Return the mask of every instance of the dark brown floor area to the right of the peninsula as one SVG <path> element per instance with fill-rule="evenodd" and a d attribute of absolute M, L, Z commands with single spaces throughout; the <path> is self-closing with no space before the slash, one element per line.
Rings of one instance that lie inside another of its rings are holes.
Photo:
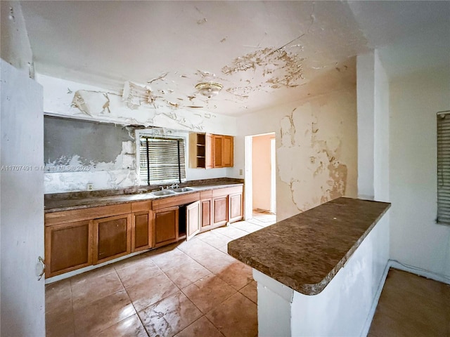
<path fill-rule="evenodd" d="M 390 269 L 368 337 L 450 337 L 450 286 Z"/>

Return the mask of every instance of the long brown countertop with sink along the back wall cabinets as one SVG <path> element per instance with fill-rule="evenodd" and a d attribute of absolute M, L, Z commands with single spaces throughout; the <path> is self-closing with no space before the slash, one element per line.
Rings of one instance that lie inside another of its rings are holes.
<path fill-rule="evenodd" d="M 115 204 L 124 204 L 128 202 L 137 202 L 137 201 L 147 201 L 147 200 L 156 200 L 162 198 L 170 198 L 176 197 L 179 195 L 185 195 L 190 193 L 198 193 L 206 190 L 216 190 L 219 188 L 226 187 L 234 187 L 234 186 L 242 186 L 243 183 L 214 183 L 214 184 L 203 184 L 203 185 L 189 185 L 193 190 L 190 192 L 176 193 L 165 196 L 156 197 L 151 194 L 151 192 L 141 192 L 135 194 L 117 194 L 117 195 L 106 195 L 104 197 L 101 196 L 91 196 L 84 197 L 81 199 L 70 198 L 69 193 L 64 193 L 61 198 L 56 197 L 55 194 L 52 197 L 48 197 L 44 201 L 44 213 L 52 213 L 59 211 L 70 211 L 74 209 L 88 209 L 91 207 L 98 206 L 110 206 Z M 75 193 L 74 193 L 75 194 Z"/>

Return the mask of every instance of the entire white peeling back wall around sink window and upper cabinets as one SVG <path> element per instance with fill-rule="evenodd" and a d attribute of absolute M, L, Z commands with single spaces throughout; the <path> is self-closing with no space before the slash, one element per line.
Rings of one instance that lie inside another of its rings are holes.
<path fill-rule="evenodd" d="M 94 190 L 139 185 L 132 132 L 135 127 L 157 126 L 186 138 L 188 132 L 236 134 L 235 117 L 197 110 L 193 113 L 181 107 L 149 107 L 102 88 L 39 74 L 37 80 L 44 86 L 47 114 L 46 193 L 82 191 L 88 183 Z M 231 170 L 188 168 L 186 178 L 222 178 Z"/>

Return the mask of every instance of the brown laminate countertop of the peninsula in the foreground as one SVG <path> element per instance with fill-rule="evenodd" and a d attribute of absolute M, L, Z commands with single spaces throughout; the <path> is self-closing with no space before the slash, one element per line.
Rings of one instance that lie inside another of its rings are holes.
<path fill-rule="evenodd" d="M 389 208 L 340 197 L 233 240 L 228 252 L 295 291 L 316 295 Z"/>

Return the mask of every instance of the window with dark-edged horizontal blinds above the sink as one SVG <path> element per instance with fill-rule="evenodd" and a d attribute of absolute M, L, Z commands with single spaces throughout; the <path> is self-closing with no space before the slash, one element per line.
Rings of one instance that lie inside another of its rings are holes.
<path fill-rule="evenodd" d="M 186 181 L 184 138 L 139 136 L 141 185 Z"/>

